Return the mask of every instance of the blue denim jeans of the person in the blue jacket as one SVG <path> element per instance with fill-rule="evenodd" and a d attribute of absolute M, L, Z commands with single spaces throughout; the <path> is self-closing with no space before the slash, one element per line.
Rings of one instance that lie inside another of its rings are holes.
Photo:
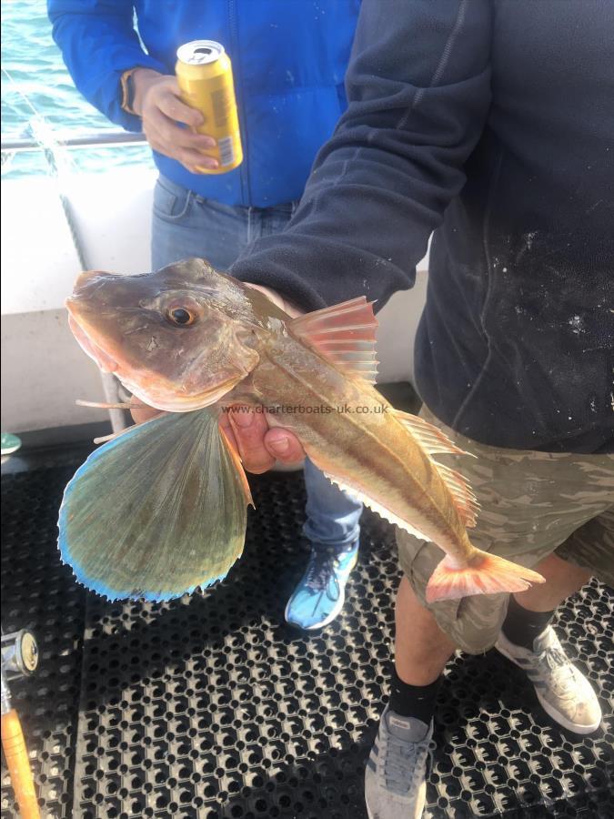
<path fill-rule="evenodd" d="M 222 205 L 159 177 L 154 191 L 152 267 L 157 270 L 180 258 L 198 257 L 226 270 L 255 239 L 281 232 L 296 207 L 297 202 L 266 208 Z M 307 540 L 338 548 L 356 541 L 362 503 L 337 489 L 308 459 L 305 485 Z"/>

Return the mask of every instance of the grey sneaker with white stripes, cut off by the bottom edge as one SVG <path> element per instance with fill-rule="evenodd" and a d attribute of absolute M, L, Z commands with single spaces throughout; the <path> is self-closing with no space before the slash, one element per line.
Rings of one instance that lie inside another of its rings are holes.
<path fill-rule="evenodd" d="M 419 819 L 427 798 L 433 723 L 390 711 L 388 705 L 365 771 L 369 819 Z"/>

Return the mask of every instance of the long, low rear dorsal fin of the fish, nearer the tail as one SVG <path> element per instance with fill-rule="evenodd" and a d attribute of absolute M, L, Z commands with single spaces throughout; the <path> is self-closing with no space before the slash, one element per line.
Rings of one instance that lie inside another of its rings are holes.
<path fill-rule="evenodd" d="M 433 424 L 429 424 L 428 421 L 418 418 L 416 415 L 399 412 L 398 410 L 395 410 L 395 416 L 408 428 L 414 438 L 418 440 L 420 446 L 427 450 L 429 456 L 454 454 L 471 455 L 472 458 L 476 457 L 472 452 L 461 450 L 453 441 L 449 440 L 445 432 L 439 430 L 438 427 L 433 426 Z M 431 460 L 433 459 L 431 458 Z M 479 504 L 468 481 L 460 472 L 451 470 L 436 460 L 433 460 L 433 465 L 438 470 L 439 477 L 446 483 L 448 490 L 450 490 L 454 496 L 458 514 L 463 524 L 468 529 L 475 526 Z"/>

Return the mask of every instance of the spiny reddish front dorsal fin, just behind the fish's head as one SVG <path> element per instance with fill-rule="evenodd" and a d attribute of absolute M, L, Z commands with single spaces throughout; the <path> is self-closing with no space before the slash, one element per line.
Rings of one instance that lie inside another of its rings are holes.
<path fill-rule="evenodd" d="M 293 319 L 290 331 L 347 375 L 375 383 L 377 319 L 364 296 Z"/>

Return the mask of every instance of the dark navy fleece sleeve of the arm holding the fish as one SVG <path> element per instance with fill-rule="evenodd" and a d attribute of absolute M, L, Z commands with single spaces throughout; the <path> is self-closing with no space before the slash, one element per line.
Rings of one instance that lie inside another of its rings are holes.
<path fill-rule="evenodd" d="M 413 286 L 490 103 L 490 0 L 363 0 L 348 108 L 286 229 L 231 273 L 307 309 Z"/>

